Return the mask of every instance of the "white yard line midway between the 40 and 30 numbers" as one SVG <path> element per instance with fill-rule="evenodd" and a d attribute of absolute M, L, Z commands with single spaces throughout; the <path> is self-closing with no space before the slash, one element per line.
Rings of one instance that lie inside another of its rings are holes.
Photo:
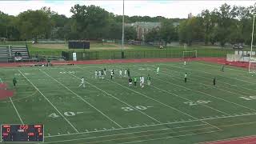
<path fill-rule="evenodd" d="M 41 70 L 41 69 L 39 69 L 39 70 Z M 49 74 L 47 74 L 45 71 L 43 71 L 43 70 L 41 70 L 41 71 L 42 71 L 42 73 L 46 74 L 48 77 L 54 79 L 55 82 L 58 82 L 57 79 L 51 77 L 51 76 L 50 76 Z M 79 78 L 79 79 L 80 79 L 80 78 Z M 64 86 L 64 85 L 62 84 L 62 82 L 58 82 L 58 83 L 59 83 L 60 85 L 62 85 L 63 87 L 65 87 L 66 90 L 69 90 L 72 94 L 74 94 L 74 95 L 76 95 L 78 98 L 80 98 L 83 102 L 86 102 L 86 104 L 88 104 L 89 106 L 93 107 L 94 110 L 97 110 L 100 114 L 102 114 L 104 117 L 106 117 L 107 119 L 109 119 L 111 122 L 114 122 L 114 124 L 116 124 L 117 126 L 122 127 L 120 124 L 118 124 L 118 122 L 115 122 L 112 118 L 108 117 L 108 116 L 107 116 L 106 114 L 104 114 L 101 110 L 98 110 L 95 106 L 91 105 L 90 102 L 87 102 L 87 101 L 86 101 L 85 99 L 83 99 L 80 95 L 74 93 L 73 90 L 70 90 L 70 88 Z"/>

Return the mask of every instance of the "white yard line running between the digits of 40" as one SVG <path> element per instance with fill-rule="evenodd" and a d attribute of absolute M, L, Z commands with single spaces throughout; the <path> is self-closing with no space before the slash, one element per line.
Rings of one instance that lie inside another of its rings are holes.
<path fill-rule="evenodd" d="M 18 70 L 18 72 L 19 72 L 20 74 L 22 74 L 22 71 L 21 71 L 21 70 Z M 22 76 L 23 76 L 24 78 L 26 78 L 26 76 L 25 76 L 24 74 L 22 74 Z M 28 78 L 26 78 L 26 80 L 27 80 L 28 82 L 30 82 L 32 86 L 34 86 L 34 83 L 31 82 Z M 38 90 L 38 92 L 46 99 L 46 101 L 49 102 L 50 105 L 54 107 L 54 109 L 58 112 L 58 114 L 60 114 L 60 115 L 62 116 L 62 118 L 63 118 L 68 124 L 70 124 L 70 126 L 74 129 L 74 131 L 76 131 L 77 133 L 79 133 L 79 131 L 73 126 L 73 124 L 72 124 L 67 118 L 65 118 L 64 115 L 57 109 L 57 107 L 54 106 L 54 104 L 53 104 L 52 102 L 50 102 L 50 100 L 49 100 L 48 98 L 46 98 L 46 96 L 45 96 L 44 94 L 42 94 L 42 92 L 38 89 L 38 87 L 37 87 L 37 86 L 34 86 L 34 88 L 35 88 L 36 90 Z"/>

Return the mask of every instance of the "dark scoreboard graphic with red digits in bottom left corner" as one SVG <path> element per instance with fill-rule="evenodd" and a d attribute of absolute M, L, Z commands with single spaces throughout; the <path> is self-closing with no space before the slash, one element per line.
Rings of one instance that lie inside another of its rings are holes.
<path fill-rule="evenodd" d="M 1 142 L 44 142 L 43 125 L 1 125 Z"/>

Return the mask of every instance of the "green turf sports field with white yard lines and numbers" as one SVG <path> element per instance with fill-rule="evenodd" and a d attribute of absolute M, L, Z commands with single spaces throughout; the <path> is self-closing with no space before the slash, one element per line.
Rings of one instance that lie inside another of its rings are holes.
<path fill-rule="evenodd" d="M 95 79 L 94 71 L 104 68 L 106 78 Z M 129 87 L 118 76 L 128 68 L 132 77 L 150 74 L 151 86 Z M 0 82 L 9 89 L 12 78 L 18 80 L 14 97 L 0 100 L 0 124 L 44 124 L 45 143 L 66 144 L 200 143 L 255 135 L 256 75 L 221 68 L 207 62 L 0 68 Z M 85 89 L 78 87 L 82 77 Z"/>

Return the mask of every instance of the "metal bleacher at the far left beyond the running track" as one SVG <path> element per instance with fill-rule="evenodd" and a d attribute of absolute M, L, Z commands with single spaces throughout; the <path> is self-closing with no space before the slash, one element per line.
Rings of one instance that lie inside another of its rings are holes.
<path fill-rule="evenodd" d="M 19 54 L 22 59 L 30 58 L 27 46 L 0 46 L 0 61 L 14 61 L 17 54 Z"/>

